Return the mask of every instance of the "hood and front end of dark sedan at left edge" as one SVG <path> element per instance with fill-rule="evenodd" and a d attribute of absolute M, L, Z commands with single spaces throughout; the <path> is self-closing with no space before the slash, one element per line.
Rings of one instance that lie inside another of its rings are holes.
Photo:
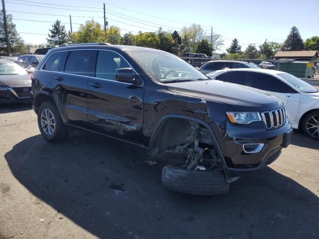
<path fill-rule="evenodd" d="M 0 91 L 0 104 L 30 102 L 31 79 L 25 75 L 0 75 L 0 86 L 9 88 Z"/>

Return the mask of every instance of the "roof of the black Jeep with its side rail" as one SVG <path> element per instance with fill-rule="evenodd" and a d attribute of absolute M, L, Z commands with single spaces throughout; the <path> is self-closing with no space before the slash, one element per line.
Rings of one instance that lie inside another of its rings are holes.
<path fill-rule="evenodd" d="M 148 48 L 148 47 L 141 47 L 141 46 L 126 46 L 126 45 L 108 45 L 107 43 L 87 43 L 87 44 L 72 44 L 72 45 L 65 45 L 56 47 L 50 50 L 50 52 L 61 51 L 61 50 L 70 50 L 76 48 L 87 48 L 87 47 L 94 47 L 94 48 L 105 48 L 105 49 L 120 49 L 124 51 L 145 51 L 145 52 L 161 52 L 167 53 L 166 51 L 161 51 L 158 49 Z"/>

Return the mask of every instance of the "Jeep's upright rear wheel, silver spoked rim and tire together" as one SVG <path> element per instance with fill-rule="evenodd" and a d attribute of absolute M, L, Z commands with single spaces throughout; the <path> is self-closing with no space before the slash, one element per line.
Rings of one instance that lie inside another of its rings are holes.
<path fill-rule="evenodd" d="M 39 107 L 38 126 L 42 136 L 50 142 L 60 142 L 68 134 L 56 106 L 49 101 Z"/>

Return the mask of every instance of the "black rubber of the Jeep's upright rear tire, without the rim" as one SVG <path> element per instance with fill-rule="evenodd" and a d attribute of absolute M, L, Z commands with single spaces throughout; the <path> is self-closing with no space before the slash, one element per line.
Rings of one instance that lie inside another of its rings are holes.
<path fill-rule="evenodd" d="M 46 132 L 44 132 L 42 125 L 41 125 L 41 114 L 44 110 L 48 109 L 55 120 L 55 128 L 53 130 L 52 135 L 48 135 Z M 50 101 L 43 102 L 38 110 L 38 126 L 40 129 L 40 132 L 42 136 L 49 142 L 61 142 L 68 134 L 68 129 L 66 128 L 65 124 L 63 123 L 61 116 L 54 105 L 54 103 Z"/>

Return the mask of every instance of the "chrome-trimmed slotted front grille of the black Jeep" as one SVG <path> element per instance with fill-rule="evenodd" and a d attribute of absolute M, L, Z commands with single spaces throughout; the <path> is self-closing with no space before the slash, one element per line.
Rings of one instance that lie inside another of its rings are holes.
<path fill-rule="evenodd" d="M 283 126 L 287 120 L 285 107 L 279 108 L 275 111 L 266 111 L 261 113 L 261 117 L 267 129 L 274 129 Z"/>

